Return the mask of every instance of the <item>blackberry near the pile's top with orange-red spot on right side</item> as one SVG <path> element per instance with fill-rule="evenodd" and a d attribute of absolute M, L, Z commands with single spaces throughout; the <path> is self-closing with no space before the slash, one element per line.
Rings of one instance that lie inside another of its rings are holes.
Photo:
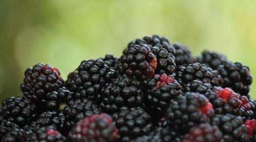
<path fill-rule="evenodd" d="M 155 74 L 157 59 L 150 50 L 151 45 L 131 46 L 119 58 L 117 69 L 120 75 L 138 79 L 151 78 Z"/>

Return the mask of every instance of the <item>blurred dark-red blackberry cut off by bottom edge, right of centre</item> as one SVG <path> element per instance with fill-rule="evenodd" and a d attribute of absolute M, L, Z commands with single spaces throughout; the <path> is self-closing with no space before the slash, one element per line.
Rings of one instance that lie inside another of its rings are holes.
<path fill-rule="evenodd" d="M 195 126 L 189 130 L 189 132 L 184 136 L 183 142 L 189 141 L 223 141 L 222 132 L 219 130 L 218 126 L 211 126 L 209 123 L 202 123 Z"/>

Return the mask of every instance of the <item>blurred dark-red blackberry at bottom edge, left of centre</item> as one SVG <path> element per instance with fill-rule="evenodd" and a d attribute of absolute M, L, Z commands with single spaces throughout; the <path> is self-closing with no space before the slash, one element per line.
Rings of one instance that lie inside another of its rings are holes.
<path fill-rule="evenodd" d="M 101 113 L 85 117 L 72 128 L 69 137 L 71 141 L 106 141 L 117 138 L 116 127 L 110 115 Z"/>

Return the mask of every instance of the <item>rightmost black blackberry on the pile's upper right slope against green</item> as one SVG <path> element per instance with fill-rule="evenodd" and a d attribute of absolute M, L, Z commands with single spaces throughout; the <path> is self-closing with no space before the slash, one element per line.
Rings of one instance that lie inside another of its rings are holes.
<path fill-rule="evenodd" d="M 230 87 L 235 92 L 247 98 L 249 97 L 248 93 L 252 83 L 252 76 L 248 66 L 243 65 L 241 62 L 233 63 L 227 61 L 219 65 L 217 70 L 224 79 L 223 87 Z"/>

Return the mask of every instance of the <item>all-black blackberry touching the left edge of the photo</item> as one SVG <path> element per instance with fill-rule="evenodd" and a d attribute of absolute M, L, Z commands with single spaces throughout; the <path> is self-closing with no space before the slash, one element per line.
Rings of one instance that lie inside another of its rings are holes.
<path fill-rule="evenodd" d="M 35 119 L 36 105 L 24 96 L 10 97 L 2 102 L 3 120 L 22 127 Z"/>

